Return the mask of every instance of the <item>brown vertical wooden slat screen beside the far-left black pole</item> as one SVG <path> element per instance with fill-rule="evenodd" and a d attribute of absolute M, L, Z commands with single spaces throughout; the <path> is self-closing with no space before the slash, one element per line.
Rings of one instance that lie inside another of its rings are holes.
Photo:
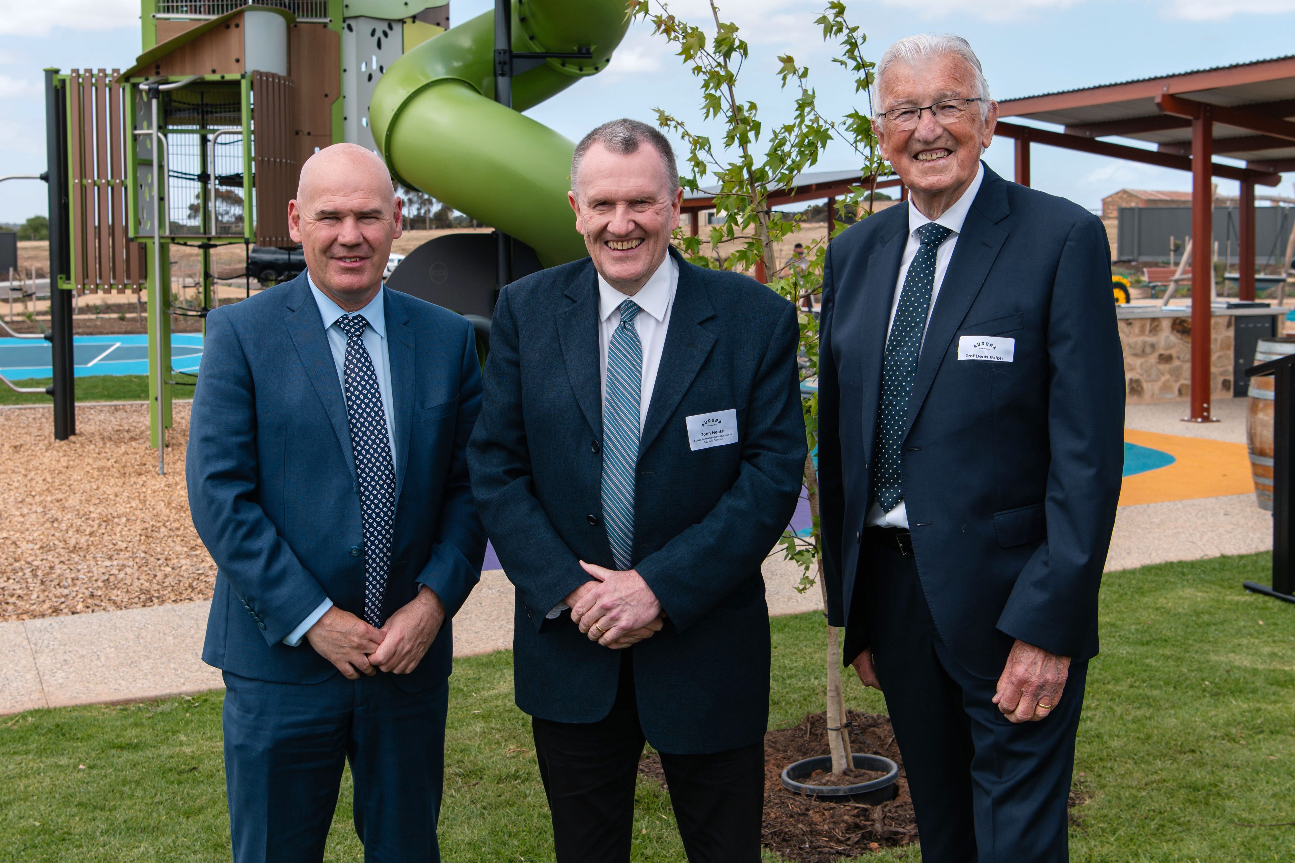
<path fill-rule="evenodd" d="M 82 291 L 140 290 L 144 243 L 127 239 L 126 89 L 117 70 L 73 70 L 67 128 L 73 283 Z"/>

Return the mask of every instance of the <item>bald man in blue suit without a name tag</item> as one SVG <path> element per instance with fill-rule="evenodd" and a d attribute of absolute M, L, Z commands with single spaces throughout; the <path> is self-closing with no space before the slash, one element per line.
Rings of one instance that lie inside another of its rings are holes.
<path fill-rule="evenodd" d="M 435 862 L 449 620 L 486 552 L 475 340 L 382 286 L 400 199 L 368 150 L 313 155 L 289 226 L 307 270 L 207 316 L 189 431 L 233 855 L 321 860 L 350 759 L 365 859 Z"/>

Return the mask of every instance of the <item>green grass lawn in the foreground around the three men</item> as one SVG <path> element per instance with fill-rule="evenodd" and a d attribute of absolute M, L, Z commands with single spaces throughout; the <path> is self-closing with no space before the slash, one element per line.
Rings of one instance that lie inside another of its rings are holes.
<path fill-rule="evenodd" d="M 1263 554 L 1107 576 L 1103 652 L 1079 736 L 1090 801 L 1072 831 L 1072 859 L 1295 860 L 1295 827 L 1242 825 L 1295 822 L 1295 606 L 1241 589 L 1244 578 L 1267 582 L 1268 567 Z M 825 639 L 820 615 L 772 625 L 771 721 L 783 726 L 821 709 Z M 510 674 L 508 653 L 455 662 L 447 860 L 552 859 Z M 884 709 L 857 681 L 847 701 Z M 0 860 L 227 859 L 220 703 L 212 694 L 0 719 Z M 329 860 L 363 859 L 348 800 L 350 785 Z M 636 860 L 684 859 L 668 798 L 642 780 L 636 819 Z"/>

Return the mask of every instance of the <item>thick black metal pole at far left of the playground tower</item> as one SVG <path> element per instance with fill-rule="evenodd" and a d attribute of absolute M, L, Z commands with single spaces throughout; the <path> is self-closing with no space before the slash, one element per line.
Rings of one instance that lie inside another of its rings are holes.
<path fill-rule="evenodd" d="M 54 440 L 76 433 L 76 379 L 73 374 L 73 292 L 60 287 L 71 276 L 67 234 L 67 96 L 57 69 L 45 70 L 45 162 L 49 176 L 49 334 L 53 365 Z"/>

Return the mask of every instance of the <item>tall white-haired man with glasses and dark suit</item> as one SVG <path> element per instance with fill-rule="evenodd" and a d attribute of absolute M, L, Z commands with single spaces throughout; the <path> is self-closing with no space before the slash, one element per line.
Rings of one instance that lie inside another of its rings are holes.
<path fill-rule="evenodd" d="M 829 246 L 829 618 L 886 695 L 927 863 L 1067 859 L 1066 801 L 1123 467 L 1101 221 L 980 162 L 997 106 L 957 36 L 877 69 L 912 198 Z"/>

